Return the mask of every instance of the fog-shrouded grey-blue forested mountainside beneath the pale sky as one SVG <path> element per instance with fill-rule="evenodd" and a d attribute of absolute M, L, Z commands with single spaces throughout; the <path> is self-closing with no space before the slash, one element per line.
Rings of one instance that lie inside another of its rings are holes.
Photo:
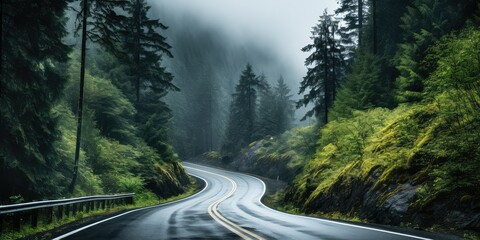
<path fill-rule="evenodd" d="M 165 59 L 165 65 L 181 91 L 168 94 L 166 102 L 175 106 L 170 142 L 183 159 L 225 145 L 232 95 L 247 64 L 256 76 L 265 76 L 272 91 L 282 76 L 286 86 L 293 89 L 294 74 L 269 50 L 232 40 L 228 34 L 199 23 L 193 16 L 177 16 L 166 9 L 158 14 L 176 26 L 165 33 L 175 43 L 171 49 L 175 57 Z"/>

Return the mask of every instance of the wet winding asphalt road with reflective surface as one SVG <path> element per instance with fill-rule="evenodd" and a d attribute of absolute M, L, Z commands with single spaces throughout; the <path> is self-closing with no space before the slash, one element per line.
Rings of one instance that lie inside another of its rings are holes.
<path fill-rule="evenodd" d="M 291 215 L 260 202 L 258 178 L 183 163 L 206 187 L 198 194 L 133 210 L 54 239 L 436 239 L 435 235 Z"/>

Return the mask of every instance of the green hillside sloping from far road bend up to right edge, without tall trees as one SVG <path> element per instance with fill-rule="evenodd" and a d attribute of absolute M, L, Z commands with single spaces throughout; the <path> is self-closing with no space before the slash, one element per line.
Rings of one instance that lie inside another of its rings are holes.
<path fill-rule="evenodd" d="M 432 48 L 422 102 L 353 111 L 253 142 L 232 159 L 206 157 L 287 181 L 269 200 L 286 211 L 478 233 L 479 39 L 466 29 Z"/>

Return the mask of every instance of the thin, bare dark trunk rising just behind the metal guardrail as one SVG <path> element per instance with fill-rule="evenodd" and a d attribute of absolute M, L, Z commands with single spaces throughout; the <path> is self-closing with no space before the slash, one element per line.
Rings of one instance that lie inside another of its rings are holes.
<path fill-rule="evenodd" d="M 75 189 L 75 183 L 78 175 L 78 160 L 80 158 L 80 143 L 82 141 L 82 118 L 83 118 L 83 88 L 85 86 L 85 55 L 87 48 L 87 18 L 88 18 L 88 0 L 83 0 L 82 17 L 82 49 L 80 62 L 80 94 L 78 96 L 78 123 L 77 123 L 77 142 L 75 145 L 75 163 L 73 167 L 73 177 L 70 183 L 70 193 Z"/>

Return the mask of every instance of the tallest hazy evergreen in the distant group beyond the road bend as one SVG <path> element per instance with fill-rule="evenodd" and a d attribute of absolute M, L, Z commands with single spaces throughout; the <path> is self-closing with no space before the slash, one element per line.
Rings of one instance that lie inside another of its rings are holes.
<path fill-rule="evenodd" d="M 230 106 L 230 118 L 222 146 L 227 154 L 237 152 L 254 139 L 257 89 L 261 87 L 261 79 L 255 75 L 252 66 L 247 64 L 235 87 Z"/>

